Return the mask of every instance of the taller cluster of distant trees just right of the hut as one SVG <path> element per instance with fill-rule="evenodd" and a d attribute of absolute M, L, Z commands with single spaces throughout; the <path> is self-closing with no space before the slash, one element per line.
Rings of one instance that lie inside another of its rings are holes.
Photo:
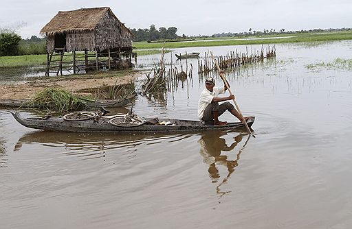
<path fill-rule="evenodd" d="M 155 28 L 155 25 L 151 25 L 149 29 L 131 29 L 133 34 L 133 41 L 148 41 L 151 42 L 153 40 L 175 40 L 179 38 L 177 36 L 177 28 L 176 27 L 159 27 L 159 29 Z"/>

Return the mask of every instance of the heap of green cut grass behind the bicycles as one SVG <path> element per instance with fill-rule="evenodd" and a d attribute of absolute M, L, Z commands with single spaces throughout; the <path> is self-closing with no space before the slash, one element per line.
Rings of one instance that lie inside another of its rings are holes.
<path fill-rule="evenodd" d="M 67 110 L 85 109 L 88 107 L 87 103 L 89 101 L 94 100 L 89 97 L 80 97 L 63 88 L 45 88 L 43 91 L 36 93 L 30 99 L 29 104 L 33 107 L 62 113 Z"/>

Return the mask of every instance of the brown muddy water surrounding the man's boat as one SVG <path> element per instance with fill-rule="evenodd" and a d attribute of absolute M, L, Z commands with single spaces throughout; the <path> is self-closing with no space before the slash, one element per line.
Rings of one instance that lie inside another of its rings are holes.
<path fill-rule="evenodd" d="M 0 228 L 350 228 L 352 72 L 305 66 L 351 59 L 352 41 L 276 52 L 226 73 L 256 138 L 41 132 L 0 110 Z M 138 97 L 137 115 L 197 119 L 203 77 L 192 63 L 183 87 Z"/>

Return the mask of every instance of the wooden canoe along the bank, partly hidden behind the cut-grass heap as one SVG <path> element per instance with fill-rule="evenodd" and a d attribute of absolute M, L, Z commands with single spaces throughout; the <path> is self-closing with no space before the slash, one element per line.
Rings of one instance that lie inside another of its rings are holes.
<path fill-rule="evenodd" d="M 99 108 L 102 106 L 105 108 L 120 108 L 129 104 L 131 102 L 129 99 L 132 99 L 133 97 L 127 99 L 99 99 L 97 101 L 87 101 L 87 108 Z M 29 101 L 30 99 L 0 99 L 0 107 L 39 108 L 36 104 L 32 106 Z"/>

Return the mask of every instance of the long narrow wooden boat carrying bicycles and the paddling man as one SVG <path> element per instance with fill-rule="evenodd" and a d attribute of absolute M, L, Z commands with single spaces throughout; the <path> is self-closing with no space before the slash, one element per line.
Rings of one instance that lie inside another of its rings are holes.
<path fill-rule="evenodd" d="M 100 132 L 100 133 L 144 133 L 144 132 L 201 132 L 209 130 L 235 130 L 243 128 L 241 122 L 228 123 L 227 125 L 205 125 L 201 121 L 181 119 L 159 119 L 159 122 L 170 122 L 170 125 L 139 125 L 135 127 L 119 127 L 111 125 L 107 120 L 64 121 L 61 117 L 50 118 L 24 118 L 19 112 L 11 111 L 14 119 L 28 128 L 50 130 L 57 132 Z M 248 119 L 248 126 L 252 126 L 255 117 Z"/>

